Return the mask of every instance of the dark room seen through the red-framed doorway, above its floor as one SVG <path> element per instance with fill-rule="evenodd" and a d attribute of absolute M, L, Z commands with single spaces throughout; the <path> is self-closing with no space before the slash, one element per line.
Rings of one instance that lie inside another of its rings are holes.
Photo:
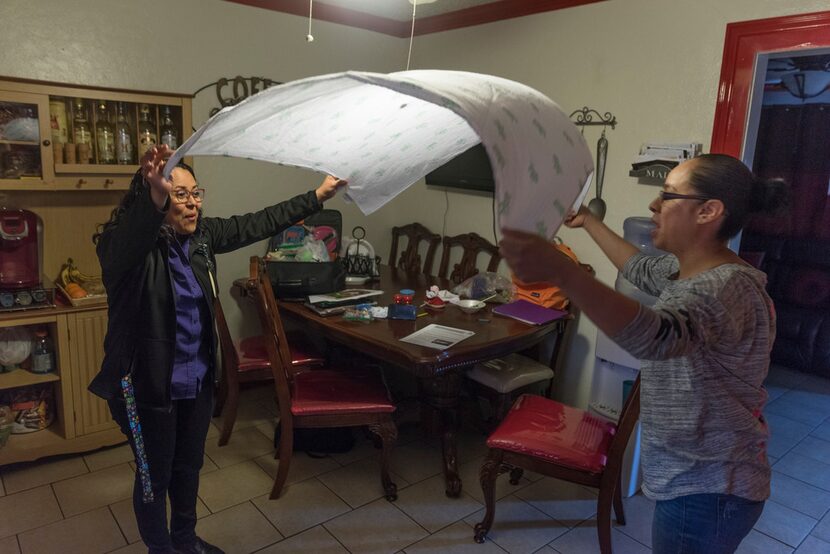
<path fill-rule="evenodd" d="M 769 279 L 773 362 L 830 378 L 830 49 L 760 54 L 753 89 L 743 158 L 791 204 L 749 222 L 741 255 Z"/>

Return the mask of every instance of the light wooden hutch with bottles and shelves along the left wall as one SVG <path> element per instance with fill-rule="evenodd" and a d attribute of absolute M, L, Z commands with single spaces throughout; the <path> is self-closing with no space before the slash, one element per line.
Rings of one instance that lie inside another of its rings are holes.
<path fill-rule="evenodd" d="M 77 99 L 82 102 L 81 111 L 75 113 Z M 147 104 L 150 119 L 155 126 L 157 139 L 161 138 L 162 115 L 169 107 L 179 139 L 184 142 L 192 129 L 192 96 L 188 94 L 154 93 L 86 87 L 72 84 L 48 83 L 8 77 L 0 77 L 0 103 L 14 105 L 14 110 L 37 114 L 37 141 L 0 141 L 0 151 L 21 151 L 27 172 L 37 171 L 36 177 L 3 179 L 0 175 L 0 197 L 6 205 L 30 210 L 42 221 L 43 251 L 40 271 L 43 275 L 57 275 L 61 265 L 71 256 L 75 263 L 89 273 L 100 273 L 100 263 L 95 245 L 90 240 L 99 230 L 99 224 L 108 221 L 112 210 L 119 205 L 123 191 L 127 190 L 138 164 L 80 164 L 75 156 L 67 154 L 65 143 L 52 145 L 50 116 L 53 103 L 61 101 L 65 107 L 55 109 L 59 127 L 66 127 L 66 140 L 73 141 L 75 122 L 86 119 L 88 131 L 96 136 L 102 112 L 99 101 L 105 102 L 109 122 L 114 124 L 118 106 L 123 102 L 122 113 L 133 136 L 133 149 L 138 151 L 141 105 Z M 77 118 L 75 116 L 78 116 Z M 30 136 L 30 135 L 19 135 Z M 63 139 L 63 131 L 60 133 Z M 80 140 L 79 140 L 80 141 Z M 58 141 L 60 142 L 60 141 Z M 160 142 L 160 141 L 159 141 Z M 46 143 L 46 144 L 44 144 Z M 74 141 L 73 141 L 74 143 Z M 92 145 L 91 161 L 101 159 L 97 147 Z M 34 156 L 34 154 L 37 154 Z M 2 173 L 2 172 L 0 172 Z M 12 175 L 9 174 L 9 177 Z M 93 395 L 87 386 L 100 371 L 104 358 L 104 339 L 107 333 L 107 305 L 93 303 L 98 299 L 85 299 L 68 306 L 60 294 L 55 295 L 55 308 L 26 311 L 0 311 L 0 328 L 46 325 L 55 349 L 57 373 L 36 375 L 26 370 L 0 374 L 0 390 L 24 387 L 38 383 L 53 383 L 55 393 L 55 422 L 50 428 L 26 435 L 13 435 L 8 444 L 0 448 L 0 466 L 31 461 L 45 456 L 85 452 L 106 445 L 123 443 L 125 437 L 112 421 L 106 401 Z"/>

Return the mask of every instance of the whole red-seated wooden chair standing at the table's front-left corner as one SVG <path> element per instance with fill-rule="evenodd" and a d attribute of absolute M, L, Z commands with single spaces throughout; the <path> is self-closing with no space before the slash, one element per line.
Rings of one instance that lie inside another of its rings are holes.
<path fill-rule="evenodd" d="M 380 437 L 381 485 L 387 500 L 397 499 L 389 477 L 391 450 L 398 436 L 395 405 L 381 375 L 367 369 L 327 365 L 313 371 L 290 371 L 290 350 L 271 281 L 258 257 L 251 258 L 249 290 L 254 292 L 265 346 L 271 360 L 279 404 L 279 459 L 271 498 L 279 498 L 291 467 L 295 428 L 363 427 Z"/>

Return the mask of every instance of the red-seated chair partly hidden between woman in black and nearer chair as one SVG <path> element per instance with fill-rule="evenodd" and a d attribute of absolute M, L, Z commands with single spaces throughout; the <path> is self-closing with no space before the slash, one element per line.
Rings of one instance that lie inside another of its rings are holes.
<path fill-rule="evenodd" d="M 272 381 L 271 361 L 265 346 L 265 337 L 255 335 L 236 342 L 231 337 L 225 311 L 219 302 L 214 301 L 216 312 L 216 332 L 219 335 L 219 348 L 222 351 L 222 378 L 216 395 L 213 417 L 222 418 L 222 430 L 219 433 L 219 446 L 225 446 L 233 433 L 236 415 L 239 410 L 239 389 L 242 383 Z M 291 366 L 295 371 L 322 366 L 326 360 L 313 347 L 302 341 L 291 346 Z"/>

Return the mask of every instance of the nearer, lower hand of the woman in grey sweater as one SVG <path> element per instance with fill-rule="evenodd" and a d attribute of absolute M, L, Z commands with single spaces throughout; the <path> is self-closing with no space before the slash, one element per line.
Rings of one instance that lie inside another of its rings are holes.
<path fill-rule="evenodd" d="M 560 284 L 577 266 L 547 239 L 524 231 L 503 229 L 499 252 L 513 274 L 525 283 Z"/>

